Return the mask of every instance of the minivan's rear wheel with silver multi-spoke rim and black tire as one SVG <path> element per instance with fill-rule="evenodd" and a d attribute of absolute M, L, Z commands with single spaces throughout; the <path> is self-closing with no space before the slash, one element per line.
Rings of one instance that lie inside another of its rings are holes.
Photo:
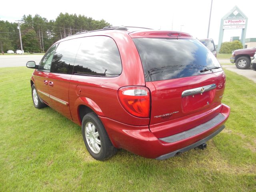
<path fill-rule="evenodd" d="M 116 154 L 117 149 L 112 145 L 108 134 L 98 118 L 91 112 L 82 120 L 82 136 L 90 155 L 96 160 L 106 160 Z"/>

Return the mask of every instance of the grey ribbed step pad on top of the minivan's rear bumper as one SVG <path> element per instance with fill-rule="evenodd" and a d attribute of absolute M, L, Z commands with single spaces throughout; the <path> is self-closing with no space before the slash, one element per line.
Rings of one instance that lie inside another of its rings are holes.
<path fill-rule="evenodd" d="M 175 134 L 175 135 L 171 135 L 168 137 L 164 137 L 164 138 L 160 138 L 160 140 L 164 141 L 164 142 L 168 142 L 168 143 L 173 143 L 179 140 L 183 140 L 189 137 L 192 137 L 194 135 L 200 134 L 214 126 L 216 126 L 217 124 L 219 124 L 220 122 L 222 122 L 225 119 L 225 116 L 221 113 L 219 113 L 216 117 L 212 118 L 210 121 L 201 124 L 199 126 L 196 126 L 192 129 L 186 130 L 184 132 Z"/>

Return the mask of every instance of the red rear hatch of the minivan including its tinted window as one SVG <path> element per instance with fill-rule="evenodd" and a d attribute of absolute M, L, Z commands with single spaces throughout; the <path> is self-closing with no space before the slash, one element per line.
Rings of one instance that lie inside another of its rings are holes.
<path fill-rule="evenodd" d="M 150 130 L 162 138 L 216 116 L 213 109 L 220 105 L 225 75 L 218 60 L 199 40 L 187 34 L 159 34 L 131 36 L 151 94 Z M 190 124 L 188 120 L 192 119 Z"/>

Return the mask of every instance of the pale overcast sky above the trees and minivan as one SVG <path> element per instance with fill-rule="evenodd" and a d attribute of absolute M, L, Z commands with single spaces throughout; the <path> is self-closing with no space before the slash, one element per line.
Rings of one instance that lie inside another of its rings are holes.
<path fill-rule="evenodd" d="M 206 38 L 211 0 L 90 0 L 90 1 L 27 1 L 3 0 L 0 20 L 14 22 L 22 16 L 39 14 L 55 20 L 62 13 L 82 14 L 93 19 L 104 19 L 113 26 L 140 26 L 154 29 L 172 29 L 188 32 L 197 38 Z M 209 38 L 218 44 L 220 20 L 234 6 L 248 17 L 246 38 L 256 38 L 256 0 L 213 0 Z M 225 30 L 224 41 L 241 36 L 242 29 Z"/>

